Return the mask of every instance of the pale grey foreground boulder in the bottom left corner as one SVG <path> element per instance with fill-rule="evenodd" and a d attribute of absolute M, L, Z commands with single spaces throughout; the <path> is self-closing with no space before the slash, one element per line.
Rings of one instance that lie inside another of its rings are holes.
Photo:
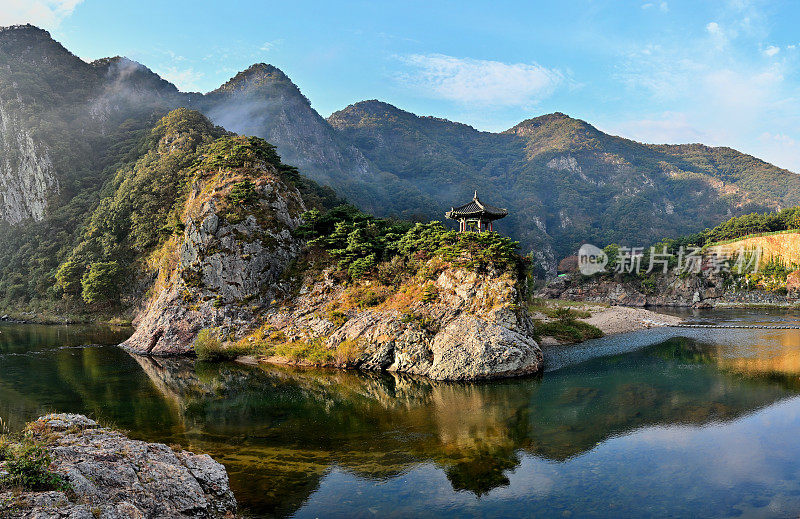
<path fill-rule="evenodd" d="M 0 493 L 13 518 L 229 518 L 236 500 L 225 468 L 208 455 L 131 440 L 82 415 L 53 414 L 29 424 L 50 451 L 66 492 Z"/>

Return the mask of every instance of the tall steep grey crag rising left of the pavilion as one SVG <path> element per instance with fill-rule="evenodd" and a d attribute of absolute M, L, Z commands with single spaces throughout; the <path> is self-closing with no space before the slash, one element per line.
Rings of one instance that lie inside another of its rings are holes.
<path fill-rule="evenodd" d="M 305 211 L 300 193 L 265 170 L 256 182 L 258 200 L 239 218 L 222 214 L 225 196 L 240 178 L 194 186 L 184 215 L 185 231 L 168 243 L 174 257 L 159 273 L 153 298 L 123 346 L 150 355 L 191 351 L 203 328 L 237 334 L 288 287 L 279 282 L 300 253 L 292 236 Z"/>

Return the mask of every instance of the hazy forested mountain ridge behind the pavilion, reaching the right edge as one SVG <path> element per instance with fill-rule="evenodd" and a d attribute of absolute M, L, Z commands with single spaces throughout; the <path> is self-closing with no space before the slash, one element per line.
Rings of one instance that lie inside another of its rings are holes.
<path fill-rule="evenodd" d="M 356 103 L 328 120 L 378 168 L 429 195 L 395 210 L 440 217 L 442 205 L 478 189 L 509 209 L 497 228 L 548 266 L 583 241 L 645 246 L 732 215 L 800 203 L 800 177 L 749 155 L 641 144 L 561 113 L 499 134 L 379 101 Z"/>

